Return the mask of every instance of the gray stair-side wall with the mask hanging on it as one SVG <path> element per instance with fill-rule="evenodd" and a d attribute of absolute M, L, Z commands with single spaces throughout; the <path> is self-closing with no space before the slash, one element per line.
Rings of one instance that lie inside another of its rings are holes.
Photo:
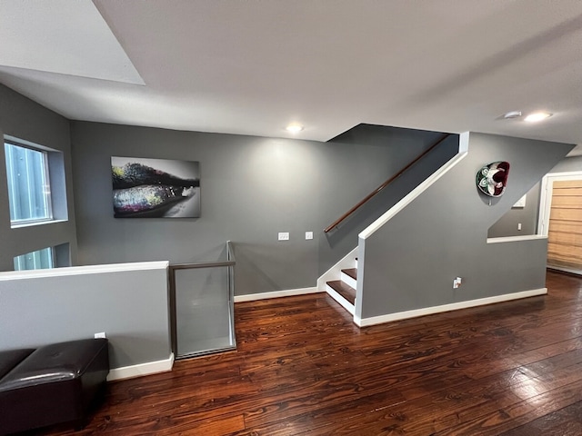
<path fill-rule="evenodd" d="M 470 134 L 465 159 L 360 240 L 363 295 L 356 314 L 368 318 L 545 287 L 547 241 L 487 244 L 487 229 L 572 147 Z M 475 179 L 495 161 L 511 163 L 511 171 L 506 193 L 489 205 Z M 453 290 L 457 276 L 463 284 Z"/>

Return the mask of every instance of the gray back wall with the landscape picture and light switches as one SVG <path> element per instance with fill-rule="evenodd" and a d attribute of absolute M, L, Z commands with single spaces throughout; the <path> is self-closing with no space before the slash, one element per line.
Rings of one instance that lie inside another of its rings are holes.
<path fill-rule="evenodd" d="M 71 136 L 79 263 L 214 261 L 230 240 L 237 295 L 315 286 L 356 247 L 366 216 L 351 220 L 356 232 L 347 236 L 328 238 L 326 225 L 432 144 L 406 129 L 369 144 L 85 122 L 72 122 Z M 201 217 L 115 219 L 112 155 L 199 161 Z M 307 231 L 314 240 L 306 241 Z M 290 240 L 278 242 L 278 232 Z"/>

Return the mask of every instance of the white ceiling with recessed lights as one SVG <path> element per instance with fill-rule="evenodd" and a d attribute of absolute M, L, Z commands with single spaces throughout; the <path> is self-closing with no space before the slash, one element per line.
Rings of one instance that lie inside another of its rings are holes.
<path fill-rule="evenodd" d="M 582 144 L 582 1 L 0 0 L 0 83 L 73 120 Z"/>

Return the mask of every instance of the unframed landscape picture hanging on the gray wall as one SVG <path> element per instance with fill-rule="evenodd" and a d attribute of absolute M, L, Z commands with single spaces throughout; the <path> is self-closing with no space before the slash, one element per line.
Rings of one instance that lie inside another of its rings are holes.
<path fill-rule="evenodd" d="M 200 164 L 111 157 L 115 218 L 197 218 Z"/>

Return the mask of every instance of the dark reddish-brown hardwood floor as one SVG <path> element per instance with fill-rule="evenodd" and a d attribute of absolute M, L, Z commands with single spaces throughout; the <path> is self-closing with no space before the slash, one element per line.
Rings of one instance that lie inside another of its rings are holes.
<path fill-rule="evenodd" d="M 358 329 L 324 293 L 236 304 L 238 350 L 109 383 L 118 435 L 580 435 L 582 280 Z"/>

